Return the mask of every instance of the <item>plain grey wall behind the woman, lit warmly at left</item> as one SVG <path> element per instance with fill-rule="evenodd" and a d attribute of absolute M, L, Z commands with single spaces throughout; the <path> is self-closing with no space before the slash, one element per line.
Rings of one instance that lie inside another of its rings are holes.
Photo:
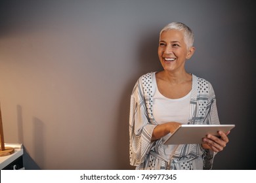
<path fill-rule="evenodd" d="M 26 169 L 134 169 L 131 90 L 161 70 L 158 33 L 179 21 L 196 37 L 188 72 L 236 124 L 213 168 L 255 169 L 253 13 L 247 1 L 1 1 L 5 142 L 24 144 Z"/>

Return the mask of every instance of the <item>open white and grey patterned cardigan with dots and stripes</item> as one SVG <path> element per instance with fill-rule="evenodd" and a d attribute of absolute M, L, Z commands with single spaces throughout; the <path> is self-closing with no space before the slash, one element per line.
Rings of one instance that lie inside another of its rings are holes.
<path fill-rule="evenodd" d="M 211 169 L 215 153 L 203 149 L 201 144 L 177 145 L 172 158 L 166 159 L 162 139 L 151 141 L 154 127 L 158 125 L 152 113 L 156 90 L 152 75 L 140 76 L 131 94 L 130 164 L 136 169 Z M 195 75 L 192 75 L 188 124 L 219 124 L 213 87 Z"/>

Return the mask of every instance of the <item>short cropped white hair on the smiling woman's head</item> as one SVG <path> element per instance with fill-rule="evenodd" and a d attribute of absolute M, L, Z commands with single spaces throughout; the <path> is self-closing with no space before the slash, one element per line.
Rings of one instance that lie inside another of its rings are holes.
<path fill-rule="evenodd" d="M 184 31 L 184 41 L 186 43 L 186 48 L 189 49 L 193 46 L 194 44 L 194 33 L 190 27 L 187 25 L 181 23 L 181 22 L 171 22 L 170 24 L 165 25 L 163 29 L 160 31 L 160 37 L 161 33 L 163 31 L 169 31 L 169 30 L 179 30 L 179 31 Z"/>

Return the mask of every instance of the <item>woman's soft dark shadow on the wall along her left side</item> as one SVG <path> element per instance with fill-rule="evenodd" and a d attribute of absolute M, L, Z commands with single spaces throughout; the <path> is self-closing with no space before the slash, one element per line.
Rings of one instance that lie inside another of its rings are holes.
<path fill-rule="evenodd" d="M 130 165 L 129 161 L 129 111 L 131 92 L 140 76 L 162 69 L 158 59 L 158 39 L 158 33 L 144 33 L 140 38 L 138 61 L 137 65 L 134 65 L 134 68 L 137 69 L 137 74 L 131 76 L 121 95 L 116 137 L 117 169 L 135 169 L 135 167 Z"/>

